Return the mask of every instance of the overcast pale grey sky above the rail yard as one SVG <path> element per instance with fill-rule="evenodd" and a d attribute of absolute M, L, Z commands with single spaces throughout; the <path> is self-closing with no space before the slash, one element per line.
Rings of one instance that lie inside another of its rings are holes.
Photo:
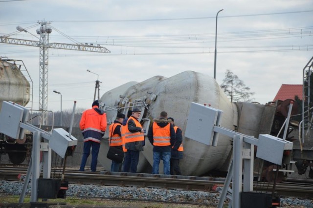
<path fill-rule="evenodd" d="M 254 101 L 272 101 L 281 84 L 302 84 L 313 56 L 312 0 L 0 0 L 0 36 L 20 25 L 36 34 L 51 22 L 49 42 L 101 44 L 110 54 L 49 49 L 48 109 L 89 108 L 99 75 L 100 96 L 130 81 L 192 70 L 226 69 L 250 87 Z M 33 27 L 32 27 L 33 26 Z M 67 35 L 69 38 L 65 37 Z M 39 36 L 38 36 L 39 37 Z M 20 32 L 11 38 L 38 40 Z M 39 100 L 39 48 L 0 43 L 0 56 L 22 59 Z M 182 81 L 183 82 L 183 81 Z"/>

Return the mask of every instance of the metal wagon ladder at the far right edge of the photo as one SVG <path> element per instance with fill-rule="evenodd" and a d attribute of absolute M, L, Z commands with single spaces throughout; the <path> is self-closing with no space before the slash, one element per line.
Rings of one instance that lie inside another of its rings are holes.
<path fill-rule="evenodd" d="M 311 65 L 310 65 L 311 62 Z M 310 89 L 311 89 L 311 73 L 313 68 L 313 57 L 303 68 L 302 80 L 302 141 L 304 142 L 304 132 L 307 129 L 306 136 L 310 138 L 310 128 L 313 122 L 313 115 L 310 115 Z M 307 82 L 306 82 L 307 81 Z M 307 84 L 306 84 L 307 83 Z M 307 95 L 305 94 L 307 92 Z M 311 117 L 311 119 L 310 119 Z"/>

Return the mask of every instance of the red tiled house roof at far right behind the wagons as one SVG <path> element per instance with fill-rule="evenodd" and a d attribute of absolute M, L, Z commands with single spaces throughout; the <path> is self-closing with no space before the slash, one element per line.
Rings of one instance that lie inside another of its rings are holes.
<path fill-rule="evenodd" d="M 273 102 L 277 100 L 284 101 L 286 99 L 293 99 L 297 95 L 302 100 L 302 84 L 282 84 L 278 90 Z"/>

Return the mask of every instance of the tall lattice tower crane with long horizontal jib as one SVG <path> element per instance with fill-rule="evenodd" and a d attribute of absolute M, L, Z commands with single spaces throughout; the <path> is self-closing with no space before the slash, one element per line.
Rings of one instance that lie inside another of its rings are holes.
<path fill-rule="evenodd" d="M 42 111 L 42 119 L 41 125 L 47 125 L 47 109 L 48 109 L 48 59 L 49 59 L 49 48 L 55 49 L 64 49 L 64 50 L 77 50 L 77 51 L 89 51 L 89 52 L 97 52 L 97 53 L 110 53 L 111 51 L 105 47 L 100 45 L 92 45 L 92 44 L 67 44 L 67 43 L 49 43 L 49 34 L 52 32 L 50 27 L 50 22 L 41 21 L 38 22 L 41 24 L 40 28 L 36 30 L 37 34 L 40 35 L 39 41 L 31 41 L 24 39 L 15 39 L 9 38 L 8 36 L 1 36 L 0 42 L 7 44 L 15 44 L 15 45 L 27 45 L 27 46 L 35 46 L 40 48 L 40 57 L 39 57 L 39 110 Z M 17 26 L 17 30 L 20 32 L 28 32 L 20 26 Z M 29 33 L 29 32 L 28 32 Z M 31 34 L 31 33 L 30 33 Z M 31 34 L 33 35 L 33 34 Z M 34 36 L 34 35 L 33 35 Z M 35 36 L 37 37 L 37 36 Z M 37 37 L 38 38 L 38 37 Z"/>

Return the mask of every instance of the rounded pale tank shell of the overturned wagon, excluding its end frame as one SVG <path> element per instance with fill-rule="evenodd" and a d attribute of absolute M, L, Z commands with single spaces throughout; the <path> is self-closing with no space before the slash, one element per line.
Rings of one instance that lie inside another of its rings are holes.
<path fill-rule="evenodd" d="M 106 92 L 101 100 L 108 100 L 111 94 L 110 91 Z M 231 138 L 220 136 L 218 146 L 206 146 L 184 137 L 191 102 L 210 104 L 223 110 L 221 126 L 225 128 L 233 130 L 234 124 L 237 124 L 236 105 L 228 100 L 212 77 L 194 71 L 185 71 L 170 78 L 156 76 L 134 84 L 122 94 L 131 102 L 139 98 L 145 101 L 148 109 L 143 112 L 143 118 L 150 119 L 151 124 L 161 111 L 166 111 L 169 117 L 174 118 L 183 133 L 184 158 L 180 161 L 183 175 L 198 176 L 215 168 L 227 170 L 231 158 Z M 119 106 L 123 107 L 123 104 L 119 103 Z M 152 145 L 148 138 L 142 155 L 153 164 Z M 160 173 L 162 169 L 161 164 Z M 138 168 L 138 172 L 141 171 L 144 170 Z"/>

